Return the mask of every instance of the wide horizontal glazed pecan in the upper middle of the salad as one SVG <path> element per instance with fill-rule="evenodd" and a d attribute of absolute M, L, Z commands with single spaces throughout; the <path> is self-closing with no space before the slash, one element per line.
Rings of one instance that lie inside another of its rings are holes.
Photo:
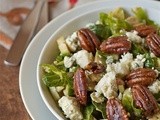
<path fill-rule="evenodd" d="M 123 54 L 131 49 L 131 43 L 126 36 L 108 38 L 100 45 L 100 50 L 109 54 Z"/>

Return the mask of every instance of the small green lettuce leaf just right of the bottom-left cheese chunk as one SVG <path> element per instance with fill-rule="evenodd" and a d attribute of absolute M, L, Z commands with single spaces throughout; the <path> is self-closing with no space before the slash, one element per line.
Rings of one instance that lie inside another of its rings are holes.
<path fill-rule="evenodd" d="M 92 116 L 94 109 L 95 109 L 95 107 L 92 104 L 87 105 L 83 111 L 83 119 L 84 120 L 94 120 L 94 118 Z"/>

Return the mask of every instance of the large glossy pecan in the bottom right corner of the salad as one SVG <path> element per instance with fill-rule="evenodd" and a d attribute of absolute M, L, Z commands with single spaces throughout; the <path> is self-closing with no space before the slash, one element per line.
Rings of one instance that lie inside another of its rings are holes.
<path fill-rule="evenodd" d="M 136 107 L 142 109 L 145 116 L 151 116 L 159 111 L 156 99 L 145 86 L 134 85 L 131 91 Z"/>

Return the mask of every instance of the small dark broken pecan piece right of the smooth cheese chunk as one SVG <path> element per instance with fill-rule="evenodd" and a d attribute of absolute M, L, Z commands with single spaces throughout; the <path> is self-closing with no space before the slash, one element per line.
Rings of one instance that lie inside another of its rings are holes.
<path fill-rule="evenodd" d="M 90 62 L 86 67 L 86 70 L 92 71 L 95 74 L 99 74 L 105 71 L 104 65 L 96 62 Z"/>

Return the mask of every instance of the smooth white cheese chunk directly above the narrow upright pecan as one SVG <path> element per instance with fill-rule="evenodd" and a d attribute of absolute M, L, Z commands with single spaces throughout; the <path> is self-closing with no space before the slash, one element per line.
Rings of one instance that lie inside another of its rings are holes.
<path fill-rule="evenodd" d="M 80 50 L 73 55 L 76 60 L 76 63 L 81 67 L 85 68 L 91 61 L 93 61 L 92 53 L 89 53 L 86 50 Z"/>

